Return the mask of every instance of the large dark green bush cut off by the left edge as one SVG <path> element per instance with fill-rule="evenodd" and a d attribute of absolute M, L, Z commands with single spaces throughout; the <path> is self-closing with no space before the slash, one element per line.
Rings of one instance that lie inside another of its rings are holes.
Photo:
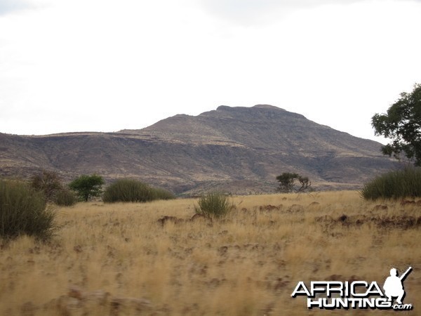
<path fill-rule="evenodd" d="M 25 183 L 0 180 L 0 236 L 48 239 L 55 230 L 55 213 L 46 208 L 44 194 Z"/>

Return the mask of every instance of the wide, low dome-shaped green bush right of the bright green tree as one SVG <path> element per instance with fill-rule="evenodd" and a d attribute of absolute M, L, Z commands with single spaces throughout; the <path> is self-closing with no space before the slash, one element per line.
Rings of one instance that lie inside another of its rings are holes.
<path fill-rule="evenodd" d="M 134 179 L 120 179 L 105 189 L 102 200 L 113 202 L 149 202 L 155 199 L 175 199 L 173 193 L 151 187 L 146 183 Z"/>

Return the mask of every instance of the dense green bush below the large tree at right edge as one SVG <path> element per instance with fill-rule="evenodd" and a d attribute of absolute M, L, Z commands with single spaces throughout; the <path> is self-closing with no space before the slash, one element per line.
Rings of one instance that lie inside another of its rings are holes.
<path fill-rule="evenodd" d="M 364 199 L 421 197 L 421 167 L 407 167 L 384 173 L 366 183 L 361 196 Z"/>

